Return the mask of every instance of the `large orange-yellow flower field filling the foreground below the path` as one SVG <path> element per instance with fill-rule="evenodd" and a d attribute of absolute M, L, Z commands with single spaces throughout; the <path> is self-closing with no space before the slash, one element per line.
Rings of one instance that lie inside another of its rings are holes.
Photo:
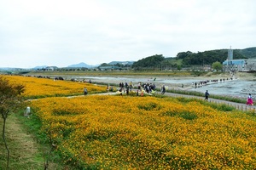
<path fill-rule="evenodd" d="M 31 107 L 56 150 L 80 168 L 256 168 L 255 118 L 240 111 L 100 95 L 32 100 Z"/>

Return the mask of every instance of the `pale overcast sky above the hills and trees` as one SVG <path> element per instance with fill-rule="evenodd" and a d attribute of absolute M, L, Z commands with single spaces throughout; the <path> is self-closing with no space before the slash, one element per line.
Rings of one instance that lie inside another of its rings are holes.
<path fill-rule="evenodd" d="M 255 0 L 0 0 L 0 67 L 256 47 Z"/>

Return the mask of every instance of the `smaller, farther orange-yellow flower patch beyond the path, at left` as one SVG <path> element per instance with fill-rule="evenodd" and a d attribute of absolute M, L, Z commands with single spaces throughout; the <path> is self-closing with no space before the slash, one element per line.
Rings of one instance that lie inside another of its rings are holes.
<path fill-rule="evenodd" d="M 86 87 L 89 94 L 106 92 L 106 87 L 84 82 L 54 81 L 53 79 L 38 77 L 3 76 L 10 82 L 25 85 L 26 98 L 42 98 L 51 96 L 81 95 Z"/>

